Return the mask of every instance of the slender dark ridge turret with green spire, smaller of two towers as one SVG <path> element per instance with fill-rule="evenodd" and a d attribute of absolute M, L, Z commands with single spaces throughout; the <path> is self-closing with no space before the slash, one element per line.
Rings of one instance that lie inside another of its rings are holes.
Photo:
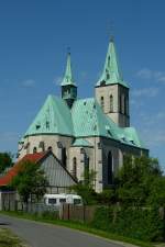
<path fill-rule="evenodd" d="M 67 102 L 67 105 L 72 108 L 74 101 L 77 99 L 77 86 L 73 78 L 70 53 L 67 54 L 66 70 L 61 86 L 62 98 Z"/>

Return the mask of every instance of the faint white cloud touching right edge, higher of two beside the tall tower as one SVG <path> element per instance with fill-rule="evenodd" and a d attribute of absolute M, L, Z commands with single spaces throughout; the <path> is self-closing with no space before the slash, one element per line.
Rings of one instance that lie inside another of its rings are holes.
<path fill-rule="evenodd" d="M 156 82 L 165 82 L 165 71 L 152 70 L 143 68 L 136 72 L 136 76 L 145 80 L 154 80 Z"/>

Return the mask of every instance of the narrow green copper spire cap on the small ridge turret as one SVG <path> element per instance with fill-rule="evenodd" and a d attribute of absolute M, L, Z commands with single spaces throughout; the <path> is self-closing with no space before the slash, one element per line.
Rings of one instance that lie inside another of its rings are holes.
<path fill-rule="evenodd" d="M 67 86 L 67 85 L 76 86 L 73 78 L 70 53 L 67 54 L 66 70 L 62 81 L 62 86 Z"/>

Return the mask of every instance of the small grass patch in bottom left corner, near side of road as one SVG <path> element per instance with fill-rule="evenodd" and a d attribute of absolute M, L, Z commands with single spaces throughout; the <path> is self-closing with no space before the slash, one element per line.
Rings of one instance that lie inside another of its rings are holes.
<path fill-rule="evenodd" d="M 11 231 L 0 227 L 0 247 L 23 247 L 22 240 Z"/>

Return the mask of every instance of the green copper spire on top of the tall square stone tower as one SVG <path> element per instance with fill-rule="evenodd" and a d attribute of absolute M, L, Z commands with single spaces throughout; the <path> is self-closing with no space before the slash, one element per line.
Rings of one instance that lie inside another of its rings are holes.
<path fill-rule="evenodd" d="M 125 81 L 123 81 L 123 78 L 119 68 L 114 41 L 113 38 L 111 38 L 108 46 L 108 53 L 106 56 L 103 71 L 99 81 L 97 82 L 97 86 L 113 85 L 113 83 L 119 83 L 128 88 L 128 85 L 125 83 Z"/>

